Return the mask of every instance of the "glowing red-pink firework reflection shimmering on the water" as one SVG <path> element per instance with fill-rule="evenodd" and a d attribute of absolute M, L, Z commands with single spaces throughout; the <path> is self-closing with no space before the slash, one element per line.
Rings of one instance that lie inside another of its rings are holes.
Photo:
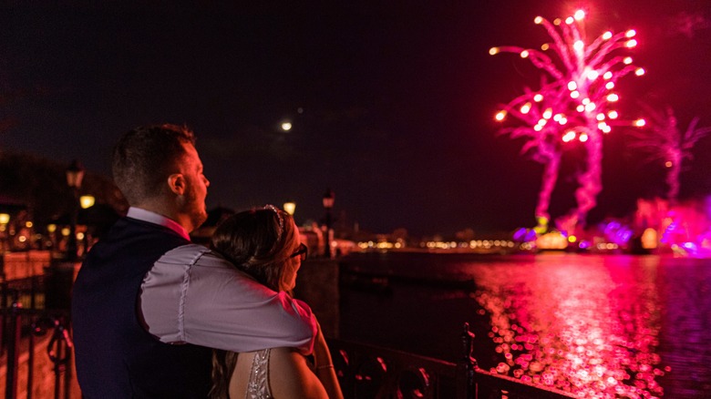
<path fill-rule="evenodd" d="M 657 265 L 604 259 L 560 255 L 479 268 L 476 298 L 501 356 L 491 371 L 581 397 L 662 396 L 657 378 L 670 369 L 656 353 Z"/>

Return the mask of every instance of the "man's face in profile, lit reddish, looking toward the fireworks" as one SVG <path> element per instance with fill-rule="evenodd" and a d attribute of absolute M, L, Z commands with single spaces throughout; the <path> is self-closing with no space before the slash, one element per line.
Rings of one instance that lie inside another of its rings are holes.
<path fill-rule="evenodd" d="M 198 151 L 191 144 L 183 144 L 185 155 L 180 164 L 180 173 L 185 177 L 186 190 L 183 195 L 182 212 L 187 214 L 191 220 L 191 229 L 195 230 L 207 220 L 207 210 L 205 210 L 205 197 L 210 181 L 202 174 L 202 161 L 198 156 Z"/>

